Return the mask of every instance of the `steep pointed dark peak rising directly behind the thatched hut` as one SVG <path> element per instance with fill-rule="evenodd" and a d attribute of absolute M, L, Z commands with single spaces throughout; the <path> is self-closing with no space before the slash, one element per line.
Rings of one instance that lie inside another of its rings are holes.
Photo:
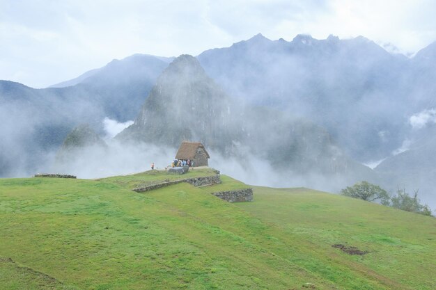
<path fill-rule="evenodd" d="M 202 140 L 226 150 L 242 133 L 234 125 L 236 114 L 196 58 L 182 55 L 162 72 L 134 124 L 117 138 L 173 147 L 182 140 Z"/>

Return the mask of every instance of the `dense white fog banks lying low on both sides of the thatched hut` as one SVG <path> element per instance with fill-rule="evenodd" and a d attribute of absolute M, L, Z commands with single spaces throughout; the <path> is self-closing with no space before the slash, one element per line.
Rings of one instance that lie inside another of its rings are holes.
<path fill-rule="evenodd" d="M 97 179 L 115 175 L 130 175 L 150 170 L 155 163 L 156 170 L 171 166 L 177 148 L 156 146 L 146 143 L 125 144 L 109 140 L 107 147 L 82 147 L 69 152 L 67 160 L 56 161 L 55 154 L 47 156 L 52 163 L 43 172 L 76 175 L 78 178 Z M 220 152 L 209 151 L 209 166 L 244 183 L 270 187 L 307 187 L 324 191 L 338 192 L 343 184 L 341 177 L 336 179 L 322 175 L 299 175 L 297 172 L 277 170 L 265 159 L 253 154 L 244 154 L 244 160 L 223 156 Z M 193 170 L 193 168 L 192 168 Z M 194 169 L 195 170 L 195 169 Z M 329 186 L 326 186 L 329 184 Z"/>

